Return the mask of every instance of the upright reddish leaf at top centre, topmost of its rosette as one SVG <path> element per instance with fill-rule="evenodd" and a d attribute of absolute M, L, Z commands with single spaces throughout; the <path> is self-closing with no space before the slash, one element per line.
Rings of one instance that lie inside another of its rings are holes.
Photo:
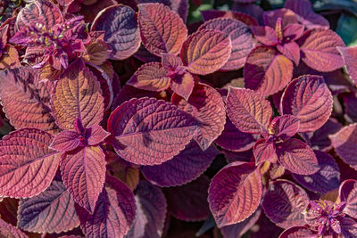
<path fill-rule="evenodd" d="M 178 54 L 187 37 L 185 23 L 179 14 L 163 4 L 139 4 L 137 21 L 145 48 L 158 56 Z"/>

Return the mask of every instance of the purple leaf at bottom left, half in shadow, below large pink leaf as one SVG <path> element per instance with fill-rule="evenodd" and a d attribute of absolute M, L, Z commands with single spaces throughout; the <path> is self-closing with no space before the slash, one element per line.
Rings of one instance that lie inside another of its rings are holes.
<path fill-rule="evenodd" d="M 36 233 L 60 233 L 79 226 L 71 193 L 54 180 L 45 192 L 20 201 L 18 226 Z"/>

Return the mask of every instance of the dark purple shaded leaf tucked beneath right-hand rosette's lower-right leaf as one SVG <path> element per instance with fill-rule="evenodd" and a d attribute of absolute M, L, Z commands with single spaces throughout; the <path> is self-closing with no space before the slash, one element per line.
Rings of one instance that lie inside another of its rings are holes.
<path fill-rule="evenodd" d="M 314 151 L 320 169 L 311 176 L 293 174 L 295 180 L 316 193 L 328 193 L 340 185 L 340 169 L 335 159 L 328 153 Z"/>

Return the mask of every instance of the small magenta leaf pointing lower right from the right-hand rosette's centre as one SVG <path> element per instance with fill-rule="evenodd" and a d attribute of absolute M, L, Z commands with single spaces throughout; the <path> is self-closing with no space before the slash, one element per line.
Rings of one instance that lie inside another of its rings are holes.
<path fill-rule="evenodd" d="M 295 174 L 312 175 L 320 169 L 315 153 L 299 139 L 277 144 L 277 154 L 281 165 Z"/>

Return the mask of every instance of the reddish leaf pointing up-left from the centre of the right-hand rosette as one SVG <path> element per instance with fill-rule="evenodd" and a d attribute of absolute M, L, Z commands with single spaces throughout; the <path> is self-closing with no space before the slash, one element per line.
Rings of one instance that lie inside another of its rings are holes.
<path fill-rule="evenodd" d="M 229 119 L 242 132 L 261 134 L 270 124 L 270 103 L 253 90 L 230 86 L 226 105 Z"/>

